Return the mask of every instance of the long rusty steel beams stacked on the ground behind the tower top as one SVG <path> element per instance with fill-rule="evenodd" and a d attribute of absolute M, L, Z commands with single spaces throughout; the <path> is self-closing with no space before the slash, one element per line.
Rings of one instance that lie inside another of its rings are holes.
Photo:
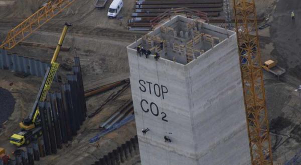
<path fill-rule="evenodd" d="M 154 17 L 179 7 L 206 12 L 209 17 L 218 16 L 222 6 L 223 0 L 137 0 L 128 26 L 132 30 L 149 30 Z"/>

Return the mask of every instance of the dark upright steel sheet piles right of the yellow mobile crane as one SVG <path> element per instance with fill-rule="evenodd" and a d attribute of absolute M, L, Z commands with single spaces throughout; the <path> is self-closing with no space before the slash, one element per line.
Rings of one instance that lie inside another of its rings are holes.
<path fill-rule="evenodd" d="M 48 94 L 48 101 L 39 102 L 46 155 L 56 153 L 62 143 L 72 140 L 86 117 L 86 103 L 79 58 L 75 58 L 73 74 L 61 92 Z"/>

